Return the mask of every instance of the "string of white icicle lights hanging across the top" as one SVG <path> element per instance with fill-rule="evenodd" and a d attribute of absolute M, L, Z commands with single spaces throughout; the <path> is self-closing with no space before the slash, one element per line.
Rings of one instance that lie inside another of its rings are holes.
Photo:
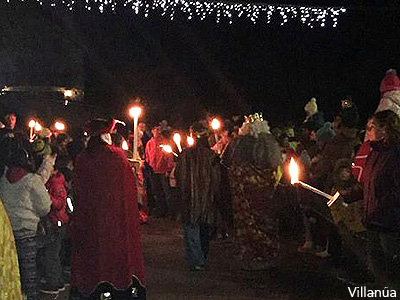
<path fill-rule="evenodd" d="M 11 2 L 27 2 L 28 0 L 6 0 Z M 336 27 L 340 15 L 346 12 L 343 7 L 309 7 L 299 5 L 271 5 L 263 3 L 229 3 L 222 1 L 196 0 L 36 0 L 40 5 L 50 7 L 63 6 L 72 11 L 82 5 L 88 11 L 98 10 L 115 12 L 122 5 L 135 14 L 143 14 L 146 18 L 151 12 L 160 12 L 174 20 L 177 13 L 183 14 L 188 20 L 206 18 L 215 19 L 217 23 L 227 20 L 232 24 L 235 18 L 247 18 L 254 24 L 266 22 L 269 24 L 274 15 L 285 25 L 291 19 L 299 19 L 301 23 L 313 28 L 315 26 Z"/>

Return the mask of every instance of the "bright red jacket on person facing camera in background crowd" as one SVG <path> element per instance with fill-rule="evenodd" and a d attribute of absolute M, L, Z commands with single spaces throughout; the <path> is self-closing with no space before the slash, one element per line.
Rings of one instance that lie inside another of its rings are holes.
<path fill-rule="evenodd" d="M 165 153 L 160 145 L 162 145 L 160 138 L 152 137 L 147 142 L 146 161 L 152 167 L 154 173 L 165 174 L 172 171 L 174 160 L 172 154 Z"/>

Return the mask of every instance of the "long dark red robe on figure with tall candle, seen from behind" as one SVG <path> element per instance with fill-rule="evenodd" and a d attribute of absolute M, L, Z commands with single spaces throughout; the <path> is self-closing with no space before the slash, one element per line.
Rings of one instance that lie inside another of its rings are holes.
<path fill-rule="evenodd" d="M 83 295 L 100 283 L 127 289 L 144 286 L 135 178 L 122 150 L 101 145 L 75 165 L 71 223 L 71 285 Z"/>

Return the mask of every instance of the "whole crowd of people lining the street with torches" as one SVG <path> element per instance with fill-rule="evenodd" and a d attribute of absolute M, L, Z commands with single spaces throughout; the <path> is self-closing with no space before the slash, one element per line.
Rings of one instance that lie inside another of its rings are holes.
<path fill-rule="evenodd" d="M 151 218 L 182 223 L 192 271 L 207 268 L 213 238 L 232 239 L 243 269 L 276 268 L 282 233 L 298 228 L 293 211 L 302 229 L 299 252 L 329 259 L 346 282 L 398 287 L 400 79 L 394 70 L 380 92 L 366 126 L 350 97 L 331 122 L 312 98 L 297 126 L 271 129 L 255 113 L 212 129 L 208 118 L 195 122 L 186 140 L 174 138 L 177 131 L 162 121 L 151 132 L 140 123 L 136 141 L 114 119 L 92 120 L 74 139 L 47 128 L 33 139 L 17 129 L 14 112 L 6 114 L 0 298 L 38 299 L 39 292 L 57 294 L 70 284 L 72 300 L 145 299 L 140 224 Z M 128 146 L 134 141 L 136 153 Z M 292 158 L 302 181 L 338 191 L 338 200 L 328 206 L 291 184 Z"/>

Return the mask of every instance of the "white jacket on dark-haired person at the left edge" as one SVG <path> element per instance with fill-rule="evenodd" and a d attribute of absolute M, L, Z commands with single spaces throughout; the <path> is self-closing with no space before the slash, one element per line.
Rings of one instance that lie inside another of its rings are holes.
<path fill-rule="evenodd" d="M 40 217 L 47 215 L 51 206 L 41 177 L 28 173 L 10 183 L 4 175 L 0 179 L 0 194 L 15 237 L 35 236 Z"/>

